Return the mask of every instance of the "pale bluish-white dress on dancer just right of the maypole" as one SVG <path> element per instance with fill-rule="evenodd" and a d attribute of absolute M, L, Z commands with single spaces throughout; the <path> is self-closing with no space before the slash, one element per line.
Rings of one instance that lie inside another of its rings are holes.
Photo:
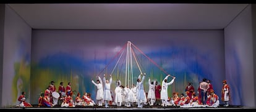
<path fill-rule="evenodd" d="M 139 76 L 140 78 L 140 76 Z M 145 79 L 145 76 L 142 77 L 142 80 L 140 82 L 137 82 L 138 92 L 137 92 L 137 100 L 145 100 L 145 94 L 144 94 L 144 87 L 143 87 L 143 81 Z"/>

